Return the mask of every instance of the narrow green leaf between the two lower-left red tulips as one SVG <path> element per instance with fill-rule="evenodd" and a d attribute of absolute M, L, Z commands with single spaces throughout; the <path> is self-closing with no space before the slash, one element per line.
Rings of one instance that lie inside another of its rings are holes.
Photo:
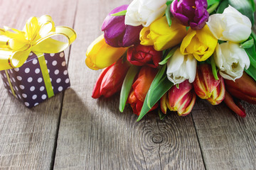
<path fill-rule="evenodd" d="M 122 84 L 122 89 L 121 89 L 121 93 L 120 93 L 120 99 L 119 99 L 119 111 L 123 112 L 124 111 L 124 107 L 125 104 L 127 103 L 127 98 L 129 96 L 129 91 L 131 91 L 132 88 L 132 83 L 134 81 L 134 77 L 136 76 L 136 74 L 139 72 L 139 67 L 132 65 L 125 78 L 124 78 L 124 82 Z"/>

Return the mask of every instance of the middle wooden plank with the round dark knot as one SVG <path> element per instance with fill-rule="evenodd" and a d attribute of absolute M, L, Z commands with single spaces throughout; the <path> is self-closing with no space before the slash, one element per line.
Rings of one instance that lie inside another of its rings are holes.
<path fill-rule="evenodd" d="M 129 2 L 78 3 L 78 40 L 69 62 L 73 85 L 65 91 L 54 169 L 204 169 L 191 115 L 160 121 L 154 113 L 137 123 L 131 108 L 119 113 L 118 94 L 91 98 L 100 71 L 85 66 L 85 50 L 101 34 L 107 13 Z"/>

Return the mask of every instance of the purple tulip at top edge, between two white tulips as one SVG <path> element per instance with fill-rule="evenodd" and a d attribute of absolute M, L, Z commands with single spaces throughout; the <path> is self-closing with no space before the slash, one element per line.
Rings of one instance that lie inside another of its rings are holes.
<path fill-rule="evenodd" d="M 200 30 L 209 18 L 207 6 L 206 0 L 174 0 L 171 3 L 171 13 L 184 26 Z"/>

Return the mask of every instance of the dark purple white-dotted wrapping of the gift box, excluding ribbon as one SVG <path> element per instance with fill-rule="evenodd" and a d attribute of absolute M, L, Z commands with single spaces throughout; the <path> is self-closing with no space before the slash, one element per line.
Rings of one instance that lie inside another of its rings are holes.
<path fill-rule="evenodd" d="M 56 54 L 44 54 L 46 65 L 53 86 L 53 93 L 58 94 L 70 87 L 68 70 L 65 63 L 64 52 Z M 45 101 L 47 96 L 43 74 L 35 54 L 30 55 L 26 63 L 19 68 L 7 70 L 11 85 L 19 101 L 31 108 Z M 5 88 L 11 93 L 11 88 L 5 71 L 0 71 Z M 11 93 L 12 94 L 12 93 Z"/>

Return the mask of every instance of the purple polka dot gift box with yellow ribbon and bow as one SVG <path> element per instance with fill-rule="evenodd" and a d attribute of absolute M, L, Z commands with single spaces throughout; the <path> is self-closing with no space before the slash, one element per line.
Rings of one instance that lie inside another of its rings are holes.
<path fill-rule="evenodd" d="M 63 50 L 75 31 L 55 27 L 50 16 L 30 18 L 23 31 L 0 28 L 0 74 L 6 89 L 31 108 L 70 87 Z M 64 35 L 68 42 L 51 37 Z"/>

